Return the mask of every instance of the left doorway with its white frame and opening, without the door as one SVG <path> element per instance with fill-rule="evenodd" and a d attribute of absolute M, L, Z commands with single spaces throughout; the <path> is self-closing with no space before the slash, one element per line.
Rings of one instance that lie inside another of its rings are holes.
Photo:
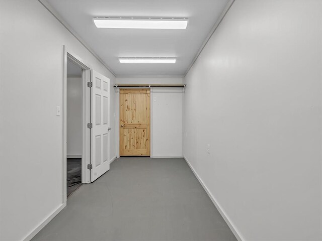
<path fill-rule="evenodd" d="M 63 46 L 62 202 L 91 182 L 91 67 Z M 68 122 L 68 123 L 67 123 Z M 67 140 L 68 139 L 68 140 Z M 79 166 L 81 165 L 81 166 Z M 80 182 L 81 180 L 81 182 Z"/>

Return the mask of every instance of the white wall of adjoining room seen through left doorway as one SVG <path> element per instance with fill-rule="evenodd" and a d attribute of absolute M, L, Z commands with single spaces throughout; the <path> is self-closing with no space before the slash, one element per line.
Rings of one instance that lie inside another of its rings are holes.
<path fill-rule="evenodd" d="M 67 158 L 82 157 L 82 78 L 67 78 Z"/>

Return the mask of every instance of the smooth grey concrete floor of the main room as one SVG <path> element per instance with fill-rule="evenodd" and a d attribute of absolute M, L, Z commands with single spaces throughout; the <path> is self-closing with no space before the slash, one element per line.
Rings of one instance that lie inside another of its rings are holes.
<path fill-rule="evenodd" d="M 182 158 L 116 159 L 33 239 L 236 240 Z"/>

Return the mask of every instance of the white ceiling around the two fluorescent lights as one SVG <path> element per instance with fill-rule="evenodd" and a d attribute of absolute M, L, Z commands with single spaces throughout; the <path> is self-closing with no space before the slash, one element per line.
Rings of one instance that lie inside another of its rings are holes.
<path fill-rule="evenodd" d="M 182 76 L 228 0 L 49 0 L 117 76 Z M 98 29 L 94 17 L 188 18 L 185 30 Z M 119 57 L 176 57 L 175 64 L 121 64 Z"/>

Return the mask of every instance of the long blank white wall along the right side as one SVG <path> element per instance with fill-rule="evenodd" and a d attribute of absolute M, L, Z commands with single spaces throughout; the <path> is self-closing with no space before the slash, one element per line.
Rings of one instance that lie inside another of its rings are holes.
<path fill-rule="evenodd" d="M 184 155 L 244 240 L 322 239 L 321 19 L 236 1 L 185 78 Z"/>

